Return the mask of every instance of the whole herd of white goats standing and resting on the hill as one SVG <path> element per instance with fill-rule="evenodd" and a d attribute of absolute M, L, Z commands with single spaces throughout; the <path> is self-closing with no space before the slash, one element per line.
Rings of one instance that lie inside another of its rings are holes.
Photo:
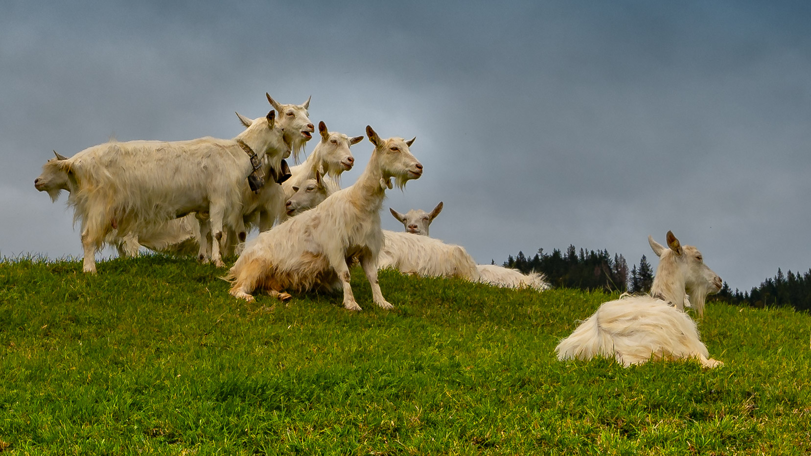
<path fill-rule="evenodd" d="M 252 301 L 263 291 L 290 299 L 287 291 L 342 291 L 345 308 L 359 311 L 350 286 L 350 266 L 359 264 L 380 308 L 393 308 L 380 291 L 378 269 L 429 277 L 460 277 L 494 286 L 543 291 L 537 273 L 523 274 L 496 265 L 476 265 L 463 247 L 428 236 L 442 210 L 410 210 L 394 217 L 405 231 L 380 227 L 385 191 L 419 179 L 423 165 L 411 153 L 415 138 L 381 138 L 372 127 L 366 137 L 375 149 L 357 181 L 341 189 L 338 178 L 351 170 L 350 137 L 318 125 L 320 141 L 298 162 L 315 126 L 310 100 L 283 105 L 266 94 L 272 110 L 260 118 L 237 114 L 245 127 L 230 140 L 204 137 L 183 141 L 111 140 L 73 157 L 54 151 L 35 179 L 38 191 L 56 200 L 62 190 L 74 220 L 80 222 L 83 270 L 96 273 L 95 254 L 104 245 L 121 256 L 142 247 L 173 255 L 197 256 L 224 267 L 223 256 L 238 255 L 226 278 L 230 294 Z M 260 233 L 246 242 L 247 232 Z M 556 347 L 559 359 L 613 357 L 624 366 L 650 359 L 709 358 L 695 321 L 703 316 L 706 295 L 721 289 L 721 279 L 695 247 L 682 246 L 667 232 L 667 246 L 648 238 L 659 256 L 648 295 L 623 295 L 603 303 Z"/>

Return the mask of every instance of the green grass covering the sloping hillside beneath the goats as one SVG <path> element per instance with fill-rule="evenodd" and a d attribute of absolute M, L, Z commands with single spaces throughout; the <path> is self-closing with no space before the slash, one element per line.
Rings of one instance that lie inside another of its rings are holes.
<path fill-rule="evenodd" d="M 726 366 L 554 347 L 612 295 L 384 271 L 393 311 L 148 256 L 0 262 L 3 454 L 811 454 L 811 317 L 710 303 Z"/>

